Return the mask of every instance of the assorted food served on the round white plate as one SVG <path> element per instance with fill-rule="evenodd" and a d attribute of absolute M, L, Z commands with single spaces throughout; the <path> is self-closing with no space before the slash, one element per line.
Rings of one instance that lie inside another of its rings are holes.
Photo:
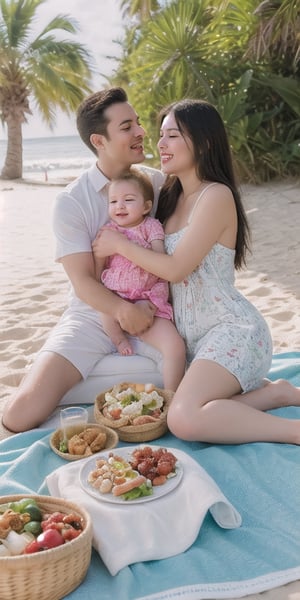
<path fill-rule="evenodd" d="M 177 458 L 165 448 L 136 448 L 126 460 L 110 452 L 108 458 L 96 459 L 88 473 L 88 483 L 100 494 L 112 494 L 123 500 L 135 500 L 153 494 L 153 487 L 163 485 L 176 475 Z"/>

